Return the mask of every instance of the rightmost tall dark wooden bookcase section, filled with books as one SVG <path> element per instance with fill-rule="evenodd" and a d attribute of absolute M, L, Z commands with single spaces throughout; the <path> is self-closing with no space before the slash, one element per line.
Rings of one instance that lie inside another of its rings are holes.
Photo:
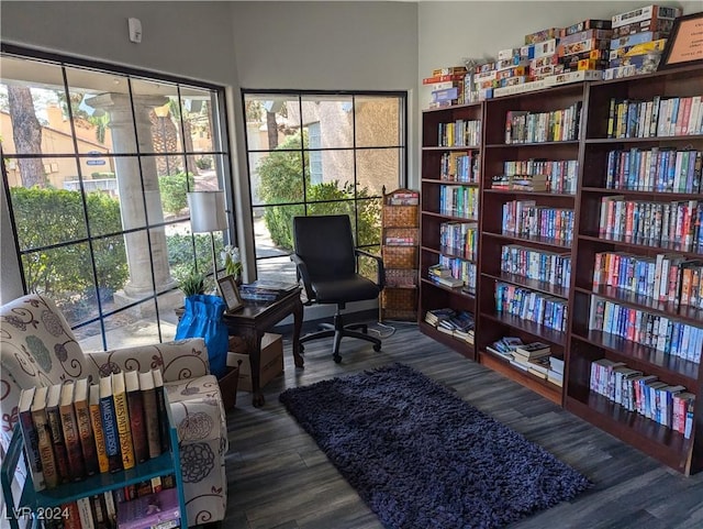
<path fill-rule="evenodd" d="M 703 68 L 589 88 L 567 409 L 703 467 Z"/>

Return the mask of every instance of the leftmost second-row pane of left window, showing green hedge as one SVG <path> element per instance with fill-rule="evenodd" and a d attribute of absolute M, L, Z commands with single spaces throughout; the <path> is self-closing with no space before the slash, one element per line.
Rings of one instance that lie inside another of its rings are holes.
<path fill-rule="evenodd" d="M 5 167 L 15 167 L 8 173 L 11 186 L 13 180 L 14 184 L 22 185 L 16 178 L 18 162 L 14 158 L 5 158 L 4 161 Z M 52 165 L 44 158 L 37 158 L 36 162 L 40 165 Z M 65 162 L 63 167 L 69 167 L 72 163 L 72 174 L 75 175 L 76 161 Z M 55 181 L 58 184 L 60 178 L 56 178 Z M 80 190 L 62 189 L 62 187 L 64 187 L 64 181 L 60 181 L 58 188 L 10 188 L 10 200 L 12 201 L 20 250 L 38 249 L 78 241 L 88 236 Z"/>

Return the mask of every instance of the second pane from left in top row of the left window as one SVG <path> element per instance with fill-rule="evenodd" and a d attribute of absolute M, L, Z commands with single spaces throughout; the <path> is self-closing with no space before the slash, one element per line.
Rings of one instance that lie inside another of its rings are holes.
<path fill-rule="evenodd" d="M 96 156 L 136 153 L 127 78 L 119 74 L 66 68 L 66 79 L 78 152 Z M 64 119 L 67 119 L 66 98 L 62 99 Z M 70 140 L 68 122 L 65 133 Z M 68 152 L 72 152 L 72 145 Z"/>

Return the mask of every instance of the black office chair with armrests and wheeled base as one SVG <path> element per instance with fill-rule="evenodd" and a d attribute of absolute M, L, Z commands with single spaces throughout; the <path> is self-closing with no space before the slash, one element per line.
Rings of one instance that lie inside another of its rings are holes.
<path fill-rule="evenodd" d="M 354 247 L 352 222 L 346 214 L 294 217 L 293 242 L 295 253 L 291 261 L 298 267 L 303 280 L 308 304 L 336 305 L 334 324 L 323 323 L 322 331 L 306 334 L 300 339 L 302 344 L 317 338 L 334 337 L 332 357 L 336 363 L 339 356 L 339 342 L 343 337 L 360 338 L 373 344 L 373 351 L 381 350 L 381 341 L 368 334 L 364 323 L 345 326 L 342 310 L 350 301 L 376 299 L 383 289 L 383 262 L 377 255 Z M 358 274 L 358 257 L 376 260 L 378 277 L 373 283 Z"/>

